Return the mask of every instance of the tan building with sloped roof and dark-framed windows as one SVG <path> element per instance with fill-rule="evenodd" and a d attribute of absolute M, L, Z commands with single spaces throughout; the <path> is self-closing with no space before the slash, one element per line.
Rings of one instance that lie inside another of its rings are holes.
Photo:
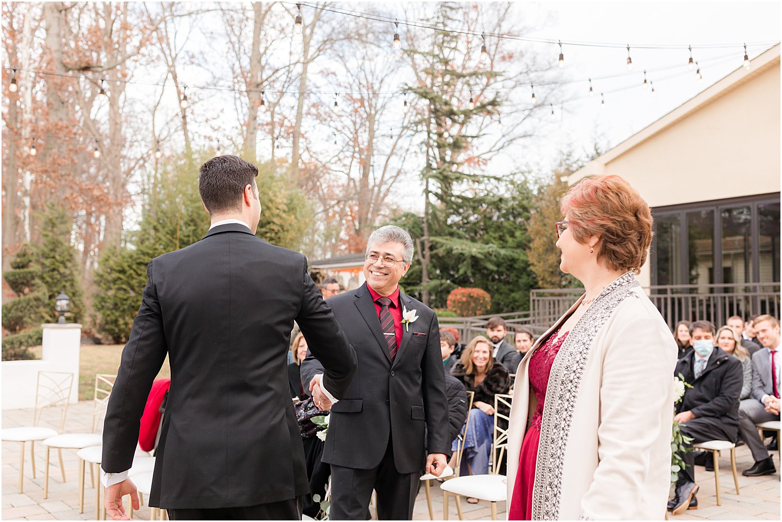
<path fill-rule="evenodd" d="M 644 287 L 714 284 L 680 290 L 716 294 L 740 284 L 777 283 L 778 292 L 780 45 L 587 163 L 568 182 L 599 174 L 624 177 L 652 207 L 655 238 L 639 276 Z M 765 307 L 750 304 L 733 313 Z M 731 312 L 720 316 L 725 313 Z"/>

